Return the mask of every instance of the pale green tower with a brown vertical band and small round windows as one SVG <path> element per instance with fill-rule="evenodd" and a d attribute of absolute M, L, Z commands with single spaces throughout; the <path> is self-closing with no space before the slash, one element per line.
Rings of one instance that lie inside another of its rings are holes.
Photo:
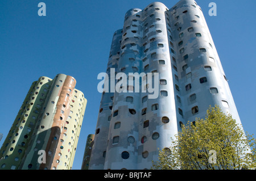
<path fill-rule="evenodd" d="M 40 77 L 0 150 L 0 169 L 71 169 L 87 100 L 75 78 Z"/>

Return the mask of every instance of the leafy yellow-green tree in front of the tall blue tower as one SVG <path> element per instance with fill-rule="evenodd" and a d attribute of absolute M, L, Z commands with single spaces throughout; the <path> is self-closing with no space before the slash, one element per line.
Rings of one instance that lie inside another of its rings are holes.
<path fill-rule="evenodd" d="M 255 147 L 255 138 L 231 115 L 209 107 L 205 119 L 183 125 L 170 148 L 159 151 L 151 169 L 255 169 Z"/>

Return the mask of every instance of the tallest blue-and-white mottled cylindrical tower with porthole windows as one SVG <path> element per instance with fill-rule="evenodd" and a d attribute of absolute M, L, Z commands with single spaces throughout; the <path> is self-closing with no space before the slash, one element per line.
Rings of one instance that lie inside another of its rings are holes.
<path fill-rule="evenodd" d="M 204 118 L 210 105 L 241 124 L 203 12 L 193 0 L 171 9 L 154 2 L 127 11 L 122 30 L 113 36 L 108 77 L 113 70 L 141 80 L 141 87 L 103 92 L 89 169 L 150 169 L 180 126 Z M 158 73 L 159 78 L 153 77 L 158 79 L 152 86 L 143 84 L 147 75 L 129 73 Z M 157 98 L 143 92 L 149 87 L 158 87 Z"/>

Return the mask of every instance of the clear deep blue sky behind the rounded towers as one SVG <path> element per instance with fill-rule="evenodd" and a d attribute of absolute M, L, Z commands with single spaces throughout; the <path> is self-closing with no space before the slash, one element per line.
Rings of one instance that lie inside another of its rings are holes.
<path fill-rule="evenodd" d="M 160 0 L 168 8 L 178 0 Z M 38 16 L 38 3 L 46 16 Z M 123 27 L 126 11 L 154 1 L 1 0 L 0 132 L 6 138 L 33 81 L 63 73 L 76 78 L 88 104 L 73 169 L 80 169 L 86 137 L 94 133 L 101 94 L 97 75 L 106 71 L 113 33 Z M 243 128 L 256 133 L 255 0 L 197 0 L 216 45 Z M 217 16 L 209 16 L 210 2 Z"/>

